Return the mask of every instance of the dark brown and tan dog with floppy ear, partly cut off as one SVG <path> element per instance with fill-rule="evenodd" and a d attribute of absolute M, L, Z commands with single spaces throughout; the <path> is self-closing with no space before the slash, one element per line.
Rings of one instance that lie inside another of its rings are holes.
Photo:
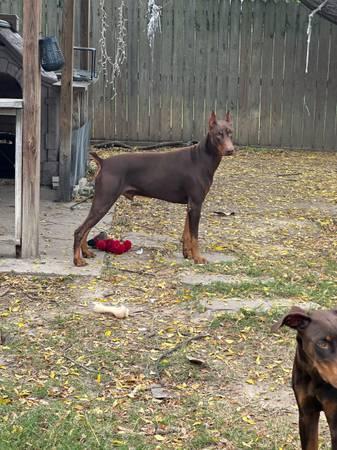
<path fill-rule="evenodd" d="M 306 312 L 294 307 L 273 330 L 297 330 L 292 385 L 299 409 L 302 450 L 318 450 L 318 422 L 324 411 L 337 450 L 337 310 Z"/>

